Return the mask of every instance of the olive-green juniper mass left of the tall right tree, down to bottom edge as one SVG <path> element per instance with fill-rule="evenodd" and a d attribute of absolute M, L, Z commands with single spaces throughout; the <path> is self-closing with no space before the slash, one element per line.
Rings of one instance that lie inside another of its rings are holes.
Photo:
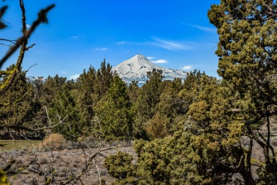
<path fill-rule="evenodd" d="M 205 74 L 190 83 L 184 89 L 197 86 L 198 91 L 188 99 L 182 127 L 165 137 L 161 125 L 166 118 L 158 112 L 148 122 L 148 134 L 163 139 L 136 140 L 139 158 L 133 178 L 138 184 L 228 184 L 239 172 L 237 167 L 244 165 L 244 148 L 239 147 L 242 125 L 231 117 L 234 91 Z"/>

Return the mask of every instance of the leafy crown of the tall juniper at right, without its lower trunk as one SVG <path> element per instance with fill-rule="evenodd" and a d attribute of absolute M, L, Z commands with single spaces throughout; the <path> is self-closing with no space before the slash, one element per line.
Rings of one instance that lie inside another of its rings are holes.
<path fill-rule="evenodd" d="M 241 99 L 251 97 L 252 120 L 265 117 L 268 109 L 277 113 L 275 9 L 275 1 L 222 1 L 208 13 L 219 34 L 218 73 Z"/>

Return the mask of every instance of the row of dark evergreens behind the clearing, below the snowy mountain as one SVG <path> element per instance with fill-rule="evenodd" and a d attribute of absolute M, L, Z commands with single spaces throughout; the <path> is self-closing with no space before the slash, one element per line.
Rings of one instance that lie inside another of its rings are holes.
<path fill-rule="evenodd" d="M 148 72 L 148 81 L 139 87 L 137 82 L 127 86 L 105 61 L 100 69 L 84 69 L 76 81 L 58 75 L 26 77 L 21 72 L 1 99 L 1 119 L 5 128 L 21 133 L 17 137 L 43 138 L 49 133 L 32 130 L 60 123 L 52 132 L 67 140 L 164 138 L 178 129 L 180 116 L 188 111 L 188 102 L 182 98 L 188 80 L 185 84 L 181 79 L 163 81 L 162 73 Z M 188 79 L 201 75 L 191 72 Z M 9 130 L 2 130 L 1 137 L 9 138 Z"/>

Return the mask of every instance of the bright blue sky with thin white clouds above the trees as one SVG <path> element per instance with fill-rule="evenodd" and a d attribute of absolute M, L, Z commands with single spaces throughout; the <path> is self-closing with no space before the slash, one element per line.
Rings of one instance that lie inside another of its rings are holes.
<path fill-rule="evenodd" d="M 106 59 L 112 66 L 140 53 L 152 62 L 171 69 L 200 69 L 217 76 L 217 30 L 207 18 L 207 10 L 219 0 L 57 0 L 29 40 L 36 43 L 26 52 L 23 69 L 28 76 L 58 74 L 72 77 L 89 65 L 99 68 Z M 8 28 L 0 38 L 16 39 L 21 31 L 18 0 L 1 1 L 9 9 L 4 20 Z M 25 0 L 27 23 L 51 1 Z M 0 45 L 1 57 L 8 47 Z M 16 57 L 6 63 L 6 67 Z"/>

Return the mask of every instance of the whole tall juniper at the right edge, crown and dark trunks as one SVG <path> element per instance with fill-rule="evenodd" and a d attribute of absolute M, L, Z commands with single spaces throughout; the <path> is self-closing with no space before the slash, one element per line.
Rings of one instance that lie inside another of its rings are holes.
<path fill-rule="evenodd" d="M 261 174 L 266 184 L 277 184 L 276 155 L 270 145 L 269 119 L 277 114 L 276 6 L 276 1 L 221 1 L 208 13 L 219 34 L 216 52 L 219 56 L 218 73 L 237 90 L 239 101 L 234 105 L 240 110 L 237 118 L 243 118 L 241 123 L 244 123 L 246 135 L 264 151 L 266 165 L 260 167 L 265 171 Z M 264 123 L 266 138 L 259 134 Z M 251 164 L 248 171 L 251 171 Z M 245 183 L 254 184 L 249 176 Z"/>

